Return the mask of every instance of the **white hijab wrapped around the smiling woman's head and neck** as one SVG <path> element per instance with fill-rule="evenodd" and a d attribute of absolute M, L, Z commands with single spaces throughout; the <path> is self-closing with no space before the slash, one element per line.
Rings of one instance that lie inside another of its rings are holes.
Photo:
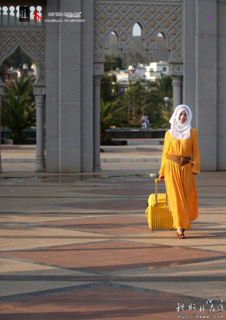
<path fill-rule="evenodd" d="M 185 123 L 179 123 L 179 115 L 180 113 L 185 110 L 187 113 L 187 120 Z M 171 134 L 172 138 L 177 138 L 179 140 L 188 139 L 191 136 L 191 119 L 192 113 L 191 109 L 186 106 L 185 104 L 180 104 L 175 108 L 173 115 L 171 116 L 169 123 L 171 124 L 171 129 L 169 133 Z"/>

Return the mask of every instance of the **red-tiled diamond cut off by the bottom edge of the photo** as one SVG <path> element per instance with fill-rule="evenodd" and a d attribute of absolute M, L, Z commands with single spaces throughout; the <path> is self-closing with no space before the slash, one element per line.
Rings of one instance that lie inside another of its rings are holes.
<path fill-rule="evenodd" d="M 0 316 L 1 320 L 173 320 L 179 299 L 170 293 L 100 286 L 4 301 Z M 191 300 L 183 303 L 188 306 Z"/>

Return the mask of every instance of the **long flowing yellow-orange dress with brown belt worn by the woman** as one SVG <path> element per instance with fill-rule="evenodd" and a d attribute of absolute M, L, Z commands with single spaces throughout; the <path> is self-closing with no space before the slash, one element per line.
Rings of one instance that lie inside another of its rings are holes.
<path fill-rule="evenodd" d="M 185 164 L 180 167 L 168 159 L 168 155 L 192 156 L 197 164 Z M 198 133 L 191 129 L 188 139 L 172 138 L 167 131 L 165 134 L 162 162 L 159 174 L 165 177 L 166 189 L 172 216 L 173 228 L 191 229 L 190 221 L 198 218 L 198 196 L 193 173 L 200 172 L 200 156 Z"/>

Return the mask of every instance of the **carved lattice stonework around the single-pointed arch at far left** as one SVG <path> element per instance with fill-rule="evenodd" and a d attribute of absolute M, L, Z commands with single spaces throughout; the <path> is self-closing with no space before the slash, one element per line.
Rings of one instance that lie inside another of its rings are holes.
<path fill-rule="evenodd" d="M 18 47 L 36 64 L 38 79 L 45 84 L 45 33 L 44 31 L 0 31 L 0 64 Z"/>

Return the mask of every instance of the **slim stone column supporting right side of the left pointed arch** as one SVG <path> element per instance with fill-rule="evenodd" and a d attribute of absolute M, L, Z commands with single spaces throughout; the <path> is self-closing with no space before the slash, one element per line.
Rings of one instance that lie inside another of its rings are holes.
<path fill-rule="evenodd" d="M 44 99 L 45 87 L 34 87 L 36 103 L 36 157 L 35 172 L 45 172 L 44 158 Z"/>

